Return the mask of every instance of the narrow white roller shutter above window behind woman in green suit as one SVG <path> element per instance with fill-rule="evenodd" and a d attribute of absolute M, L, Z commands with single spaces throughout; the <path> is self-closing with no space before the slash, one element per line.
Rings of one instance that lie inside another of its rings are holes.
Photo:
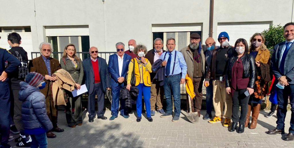
<path fill-rule="evenodd" d="M 46 36 L 88 36 L 89 26 L 46 26 Z"/>

